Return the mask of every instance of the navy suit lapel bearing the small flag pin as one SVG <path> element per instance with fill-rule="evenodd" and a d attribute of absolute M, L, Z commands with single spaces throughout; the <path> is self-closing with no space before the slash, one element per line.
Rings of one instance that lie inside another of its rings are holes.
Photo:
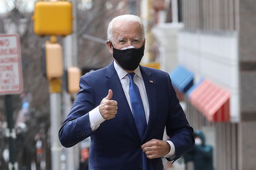
<path fill-rule="evenodd" d="M 153 127 L 156 117 L 156 81 L 155 78 L 151 76 L 151 72 L 143 67 L 140 66 L 141 74 L 143 77 L 143 81 L 145 84 L 147 96 L 148 96 L 148 105 L 149 105 L 149 118 L 148 118 L 148 125 L 146 131 L 142 137 L 142 141 L 148 136 L 150 130 Z"/>

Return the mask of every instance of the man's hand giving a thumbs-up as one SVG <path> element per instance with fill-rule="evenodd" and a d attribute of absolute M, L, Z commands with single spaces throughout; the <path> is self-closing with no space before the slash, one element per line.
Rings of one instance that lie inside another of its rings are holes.
<path fill-rule="evenodd" d="M 112 96 L 113 92 L 109 89 L 108 95 L 100 102 L 100 114 L 105 120 L 113 119 L 117 113 L 117 102 L 116 100 L 111 100 Z"/>

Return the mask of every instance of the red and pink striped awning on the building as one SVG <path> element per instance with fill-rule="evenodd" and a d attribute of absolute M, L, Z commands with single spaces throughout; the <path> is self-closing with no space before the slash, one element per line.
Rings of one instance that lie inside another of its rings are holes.
<path fill-rule="evenodd" d="M 189 100 L 211 122 L 229 122 L 230 92 L 205 79 L 189 94 Z"/>

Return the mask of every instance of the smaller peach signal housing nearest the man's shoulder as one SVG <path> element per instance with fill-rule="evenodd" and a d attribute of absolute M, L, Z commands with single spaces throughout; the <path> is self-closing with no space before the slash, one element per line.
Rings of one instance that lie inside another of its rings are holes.
<path fill-rule="evenodd" d="M 74 93 L 80 90 L 79 88 L 79 80 L 81 77 L 81 70 L 77 67 L 68 67 L 67 70 L 68 77 L 68 92 Z"/>

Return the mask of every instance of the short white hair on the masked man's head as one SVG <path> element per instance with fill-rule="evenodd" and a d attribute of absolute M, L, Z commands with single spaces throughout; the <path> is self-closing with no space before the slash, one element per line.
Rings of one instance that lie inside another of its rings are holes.
<path fill-rule="evenodd" d="M 142 19 L 140 17 L 138 17 L 137 15 L 126 14 L 126 15 L 119 15 L 119 16 L 113 18 L 110 21 L 110 23 L 108 24 L 108 32 L 107 32 L 108 41 L 112 42 L 114 40 L 113 23 L 116 22 L 117 20 L 125 21 L 125 22 L 138 22 L 138 23 L 140 23 L 141 33 L 142 33 L 142 40 L 145 40 L 144 25 L 143 25 Z"/>

